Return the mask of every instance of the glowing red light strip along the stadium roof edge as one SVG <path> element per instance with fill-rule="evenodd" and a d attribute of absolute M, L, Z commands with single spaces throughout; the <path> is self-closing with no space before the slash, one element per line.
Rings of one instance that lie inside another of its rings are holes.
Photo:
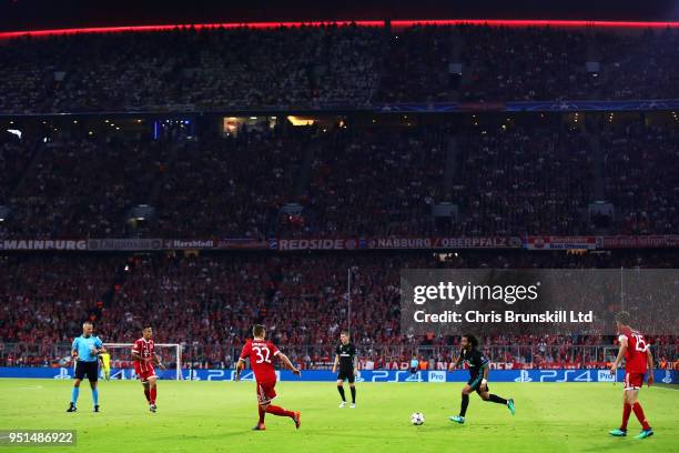
<path fill-rule="evenodd" d="M 168 31 L 178 27 L 193 27 L 197 30 L 205 28 L 222 27 L 234 29 L 249 27 L 253 29 L 272 29 L 278 27 L 320 27 L 327 24 L 348 26 L 355 23 L 358 27 L 384 27 L 381 20 L 358 20 L 358 21 L 312 21 L 312 22 L 229 22 L 229 23 L 184 23 L 168 26 L 131 26 L 131 27 L 88 27 L 69 28 L 53 30 L 24 30 L 24 31 L 3 31 L 0 39 L 12 39 L 26 36 L 50 37 L 59 34 L 81 34 L 81 33 L 120 33 L 129 31 Z M 631 28 L 631 29 L 665 29 L 679 28 L 679 22 L 635 22 L 635 21 L 601 21 L 601 20 L 498 20 L 498 19 L 436 19 L 436 20 L 394 20 L 392 27 L 404 28 L 416 24 L 429 26 L 488 26 L 488 27 L 574 27 L 574 28 Z"/>

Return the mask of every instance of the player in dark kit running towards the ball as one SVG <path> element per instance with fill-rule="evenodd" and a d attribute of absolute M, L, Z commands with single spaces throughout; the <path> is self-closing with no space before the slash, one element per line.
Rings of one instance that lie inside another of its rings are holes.
<path fill-rule="evenodd" d="M 459 356 L 450 364 L 449 371 L 454 371 L 460 361 L 464 361 L 469 368 L 469 381 L 463 389 L 463 401 L 462 407 L 459 409 L 459 415 L 453 415 L 449 419 L 453 422 L 465 423 L 465 414 L 467 413 L 467 406 L 469 405 L 469 393 L 476 392 L 484 401 L 490 401 L 493 403 L 505 404 L 509 407 L 509 412 L 514 415 L 514 400 L 505 400 L 493 393 L 488 393 L 488 359 L 477 350 L 478 340 L 472 334 L 463 335 L 459 343 L 462 351 Z"/>

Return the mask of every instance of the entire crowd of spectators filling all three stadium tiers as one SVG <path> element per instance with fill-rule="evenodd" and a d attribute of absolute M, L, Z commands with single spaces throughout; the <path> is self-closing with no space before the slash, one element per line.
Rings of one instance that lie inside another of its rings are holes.
<path fill-rule="evenodd" d="M 678 44 L 670 30 L 488 27 L 22 38 L 0 42 L 0 112 L 669 99 L 679 98 Z M 588 62 L 600 66 L 588 70 Z M 8 131 L 0 135 L 0 207 L 10 211 L 0 239 L 581 234 L 595 231 L 586 210 L 597 183 L 615 207 L 612 233 L 677 233 L 678 153 L 677 128 L 648 123 L 586 132 L 507 119 L 501 128 L 475 123 L 453 132 L 404 115 L 397 128 L 280 122 L 160 140 Z M 455 221 L 434 220 L 440 202 L 459 208 Z M 301 212 L 283 215 L 287 203 Z M 155 213 L 141 224 L 130 222 L 139 204 Z M 327 365 L 349 324 L 371 366 L 413 354 L 447 362 L 457 336 L 402 331 L 403 269 L 677 265 L 672 252 L 475 252 L 444 261 L 424 252 L 8 254 L 0 256 L 0 363 L 63 363 L 88 319 L 104 340 L 124 343 L 151 323 L 159 341 L 181 343 L 196 366 L 230 366 L 255 322 L 305 368 Z M 675 336 L 652 342 L 659 360 L 677 360 Z M 607 361 L 602 346 L 611 345 L 612 336 L 595 332 L 487 335 L 483 348 L 496 362 L 587 366 Z"/>

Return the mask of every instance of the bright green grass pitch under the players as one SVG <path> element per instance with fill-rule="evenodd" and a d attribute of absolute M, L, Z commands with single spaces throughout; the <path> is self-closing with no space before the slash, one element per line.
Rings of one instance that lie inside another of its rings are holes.
<path fill-rule="evenodd" d="M 84 384 L 84 383 L 83 383 Z M 78 445 L 0 447 L 3 452 L 679 452 L 679 392 L 645 387 L 640 400 L 656 435 L 614 439 L 622 389 L 598 383 L 491 383 L 513 396 L 517 413 L 470 396 L 467 423 L 453 424 L 462 384 L 359 383 L 356 410 L 337 409 L 333 383 L 278 383 L 276 404 L 302 411 L 302 429 L 290 419 L 266 415 L 256 422 L 252 382 L 159 384 L 159 412 L 149 412 L 138 382 L 100 384 L 101 413 L 91 412 L 91 393 L 81 387 L 79 412 L 65 413 L 70 381 L 0 380 L 0 430 L 78 430 Z M 348 394 L 348 389 L 347 389 Z M 425 414 L 413 426 L 411 413 Z M 630 434 L 639 424 L 632 414 Z"/>

